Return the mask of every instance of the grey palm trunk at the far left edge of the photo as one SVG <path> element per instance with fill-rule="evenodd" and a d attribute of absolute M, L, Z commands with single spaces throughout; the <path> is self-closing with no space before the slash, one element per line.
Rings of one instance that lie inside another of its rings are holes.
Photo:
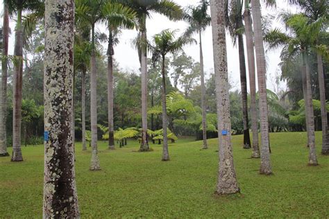
<path fill-rule="evenodd" d="M 2 55 L 5 58 L 8 55 L 8 37 L 9 37 L 9 13 L 8 6 L 3 3 L 3 48 Z M 2 75 L 0 83 L 0 157 L 8 157 L 7 151 L 7 133 L 6 133 L 6 121 L 7 121 L 7 60 L 2 60 Z"/>

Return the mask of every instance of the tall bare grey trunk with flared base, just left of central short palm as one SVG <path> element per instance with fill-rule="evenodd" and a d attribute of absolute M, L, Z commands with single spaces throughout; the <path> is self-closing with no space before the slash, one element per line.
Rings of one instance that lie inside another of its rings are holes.
<path fill-rule="evenodd" d="M 142 18 L 141 28 L 142 42 L 146 42 L 146 15 Z M 142 78 L 142 141 L 140 151 L 148 151 L 149 143 L 147 141 L 147 49 L 141 46 L 141 78 Z"/>

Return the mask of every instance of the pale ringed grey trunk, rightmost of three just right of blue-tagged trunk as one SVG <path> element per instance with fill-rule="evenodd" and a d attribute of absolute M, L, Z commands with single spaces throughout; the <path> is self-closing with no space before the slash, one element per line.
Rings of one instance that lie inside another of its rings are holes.
<path fill-rule="evenodd" d="M 262 15 L 260 11 L 260 0 L 251 0 L 251 7 L 253 10 L 253 30 L 255 33 L 258 93 L 260 94 L 260 173 L 269 175 L 272 173 L 272 168 L 269 153 L 269 119 L 267 111 L 266 62 L 262 35 Z"/>

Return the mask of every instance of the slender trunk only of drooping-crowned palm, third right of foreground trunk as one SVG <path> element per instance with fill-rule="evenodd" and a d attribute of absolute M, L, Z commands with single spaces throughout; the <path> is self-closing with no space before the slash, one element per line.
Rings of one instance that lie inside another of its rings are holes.
<path fill-rule="evenodd" d="M 109 31 L 112 39 L 112 30 Z M 108 44 L 108 149 L 115 149 L 114 122 L 113 122 L 113 44 Z"/>

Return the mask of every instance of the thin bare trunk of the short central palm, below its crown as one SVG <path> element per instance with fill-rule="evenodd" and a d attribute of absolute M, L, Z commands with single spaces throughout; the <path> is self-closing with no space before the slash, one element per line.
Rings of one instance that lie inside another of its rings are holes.
<path fill-rule="evenodd" d="M 168 116 L 167 116 L 167 100 L 166 100 L 166 70 L 165 70 L 165 55 L 162 56 L 162 130 L 163 130 L 163 143 L 162 143 L 162 161 L 169 161 L 168 151 Z"/>

